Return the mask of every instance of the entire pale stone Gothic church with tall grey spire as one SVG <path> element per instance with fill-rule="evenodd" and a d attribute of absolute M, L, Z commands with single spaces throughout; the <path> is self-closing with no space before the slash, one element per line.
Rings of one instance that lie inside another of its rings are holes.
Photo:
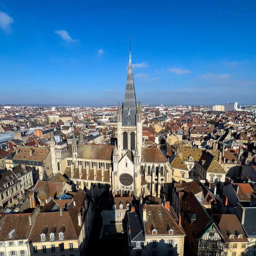
<path fill-rule="evenodd" d="M 117 143 L 87 145 L 82 134 L 72 143 L 51 139 L 52 171 L 67 175 L 76 189 L 85 187 L 99 195 L 109 190 L 115 195 L 154 195 L 168 192 L 171 167 L 160 148 L 143 147 L 142 108 L 137 105 L 129 55 L 125 100 L 117 110 Z M 98 195 L 95 195 L 97 197 Z"/>

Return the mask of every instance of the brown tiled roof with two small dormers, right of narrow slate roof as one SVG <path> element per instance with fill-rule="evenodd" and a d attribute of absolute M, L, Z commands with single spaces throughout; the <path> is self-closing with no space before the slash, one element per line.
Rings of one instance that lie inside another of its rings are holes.
<path fill-rule="evenodd" d="M 164 206 L 151 204 L 145 205 L 145 208 L 145 235 L 152 235 L 152 227 L 157 230 L 157 235 L 169 235 L 170 227 L 174 230 L 174 236 L 185 235 L 183 228 L 178 225 L 177 220 Z M 148 212 L 151 212 L 151 215 Z"/>

